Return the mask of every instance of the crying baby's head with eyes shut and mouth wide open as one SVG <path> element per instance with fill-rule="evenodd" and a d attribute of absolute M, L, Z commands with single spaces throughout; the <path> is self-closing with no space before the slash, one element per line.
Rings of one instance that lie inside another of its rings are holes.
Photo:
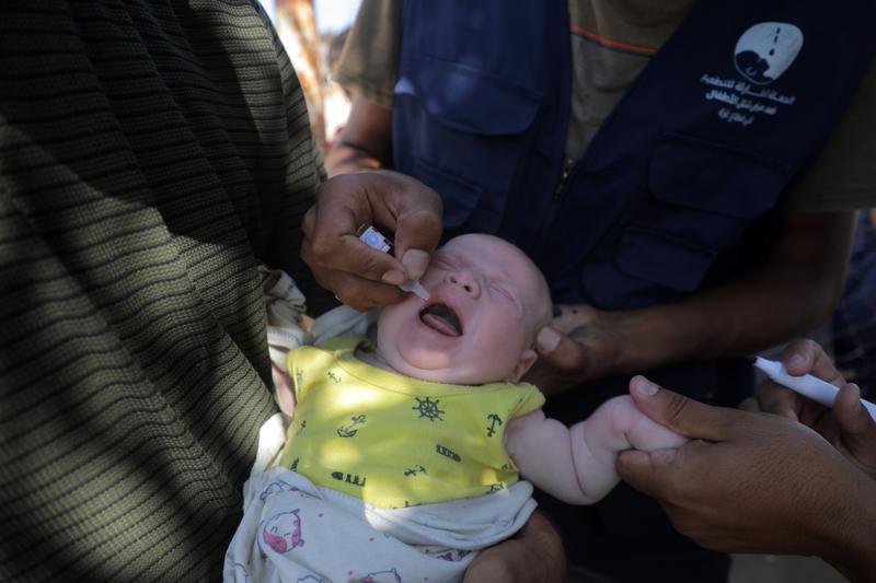
<path fill-rule="evenodd" d="M 535 361 L 535 328 L 550 320 L 544 279 L 514 245 L 462 235 L 433 256 L 410 294 L 378 323 L 379 352 L 401 374 L 439 383 L 517 382 Z"/>

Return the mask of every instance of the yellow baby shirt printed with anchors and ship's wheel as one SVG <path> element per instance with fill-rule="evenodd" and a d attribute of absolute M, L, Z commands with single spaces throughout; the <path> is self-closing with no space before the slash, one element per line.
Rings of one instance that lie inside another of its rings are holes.
<path fill-rule="evenodd" d="M 359 338 L 289 353 L 295 419 L 280 465 L 381 508 L 476 497 L 518 471 L 505 452 L 508 420 L 544 404 L 533 385 L 446 385 L 356 359 Z"/>

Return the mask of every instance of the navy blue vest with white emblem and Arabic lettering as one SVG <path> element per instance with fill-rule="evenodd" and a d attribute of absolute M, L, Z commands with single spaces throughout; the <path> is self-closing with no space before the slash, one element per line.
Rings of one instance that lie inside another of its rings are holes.
<path fill-rule="evenodd" d="M 564 176 L 567 3 L 509 4 L 405 1 L 393 165 L 441 194 L 447 236 L 507 238 L 555 302 L 602 310 L 676 302 L 762 258 L 876 51 L 872 0 L 701 0 Z M 735 405 L 750 374 L 729 366 L 657 380 L 706 400 L 724 384 Z"/>

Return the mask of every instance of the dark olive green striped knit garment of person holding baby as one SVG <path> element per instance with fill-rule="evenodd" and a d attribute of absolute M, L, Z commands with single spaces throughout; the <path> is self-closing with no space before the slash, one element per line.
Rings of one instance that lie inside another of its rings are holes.
<path fill-rule="evenodd" d="M 322 178 L 247 0 L 0 8 L 0 579 L 221 576 Z M 323 304 L 324 305 L 324 304 Z"/>

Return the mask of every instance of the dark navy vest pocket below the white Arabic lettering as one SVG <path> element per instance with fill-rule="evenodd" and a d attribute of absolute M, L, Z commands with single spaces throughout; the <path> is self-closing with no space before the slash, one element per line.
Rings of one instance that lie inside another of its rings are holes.
<path fill-rule="evenodd" d="M 696 291 L 715 258 L 737 247 L 752 222 L 776 206 L 787 182 L 784 168 L 754 152 L 665 135 L 615 264 L 669 290 Z"/>

